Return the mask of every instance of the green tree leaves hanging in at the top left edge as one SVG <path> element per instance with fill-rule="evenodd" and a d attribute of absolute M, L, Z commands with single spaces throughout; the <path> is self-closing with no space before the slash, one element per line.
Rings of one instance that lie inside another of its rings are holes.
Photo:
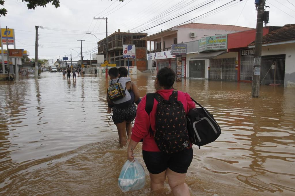
<path fill-rule="evenodd" d="M 114 1 L 114 0 L 111 0 Z M 117 0 L 117 1 L 124 1 L 124 0 Z M 4 0 L 0 0 L 0 5 L 4 5 Z M 60 6 L 59 0 L 22 0 L 22 2 L 27 2 L 28 9 L 35 9 L 37 6 L 46 7 L 47 4 L 51 3 L 55 8 Z M 5 8 L 0 9 L 0 16 L 6 16 L 7 10 Z"/>

